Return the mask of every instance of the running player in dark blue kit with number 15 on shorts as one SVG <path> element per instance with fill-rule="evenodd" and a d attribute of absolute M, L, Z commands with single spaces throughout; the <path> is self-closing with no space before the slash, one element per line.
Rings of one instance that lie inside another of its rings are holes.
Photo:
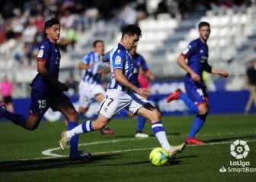
<path fill-rule="evenodd" d="M 60 111 L 68 121 L 68 130 L 78 125 L 78 112 L 63 93 L 69 89 L 59 82 L 60 52 L 57 45 L 60 34 L 59 20 L 52 18 L 44 25 L 46 39 L 40 44 L 37 54 L 38 74 L 31 83 L 31 103 L 27 116 L 11 113 L 5 107 L 0 107 L 0 117 L 12 121 L 27 130 L 35 130 L 40 124 L 43 114 L 48 108 Z M 89 153 L 78 151 L 78 136 L 70 139 L 70 159 L 90 158 Z"/>

